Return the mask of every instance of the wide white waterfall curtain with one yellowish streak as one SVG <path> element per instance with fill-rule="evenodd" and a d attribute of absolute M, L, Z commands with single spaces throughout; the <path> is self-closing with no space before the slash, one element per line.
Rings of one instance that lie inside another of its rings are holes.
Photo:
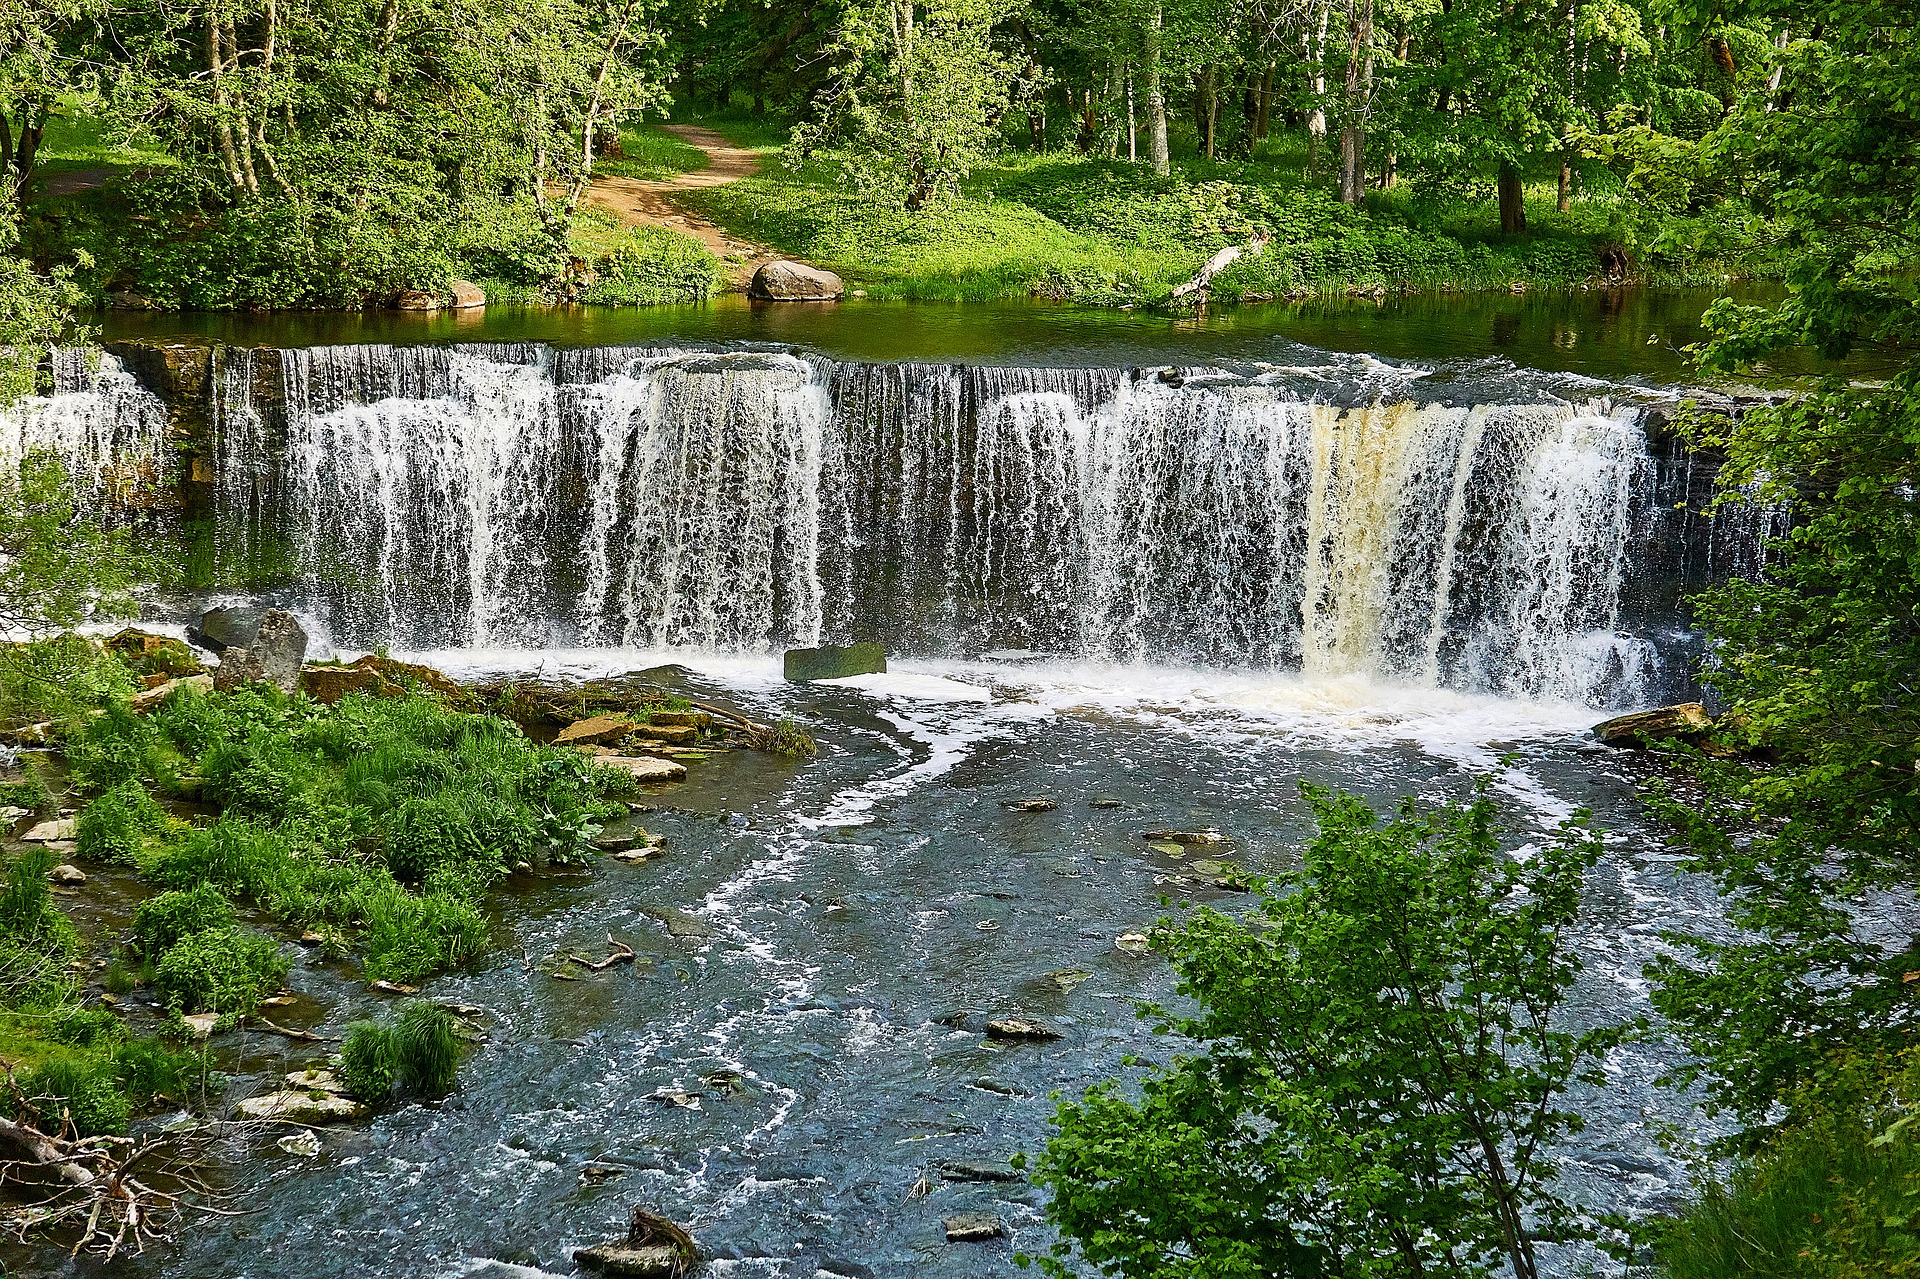
<path fill-rule="evenodd" d="M 1594 703 L 1657 664 L 1622 622 L 1655 459 L 1605 398 L 758 350 L 280 359 L 284 459 L 223 419 L 221 511 L 278 494 L 346 643 L 877 636 Z"/>

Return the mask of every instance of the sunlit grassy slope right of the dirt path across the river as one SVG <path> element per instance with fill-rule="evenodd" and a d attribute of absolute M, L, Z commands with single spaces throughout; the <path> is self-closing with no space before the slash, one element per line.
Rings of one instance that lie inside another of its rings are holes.
<path fill-rule="evenodd" d="M 712 127 L 733 136 L 739 123 Z M 762 125 L 762 144 L 764 134 Z M 689 202 L 877 298 L 1160 302 L 1254 229 L 1273 234 L 1273 246 L 1223 275 L 1217 300 L 1576 286 L 1601 277 L 1599 252 L 1611 244 L 1622 244 L 1651 282 L 1716 282 L 1740 257 L 1738 236 L 1711 221 L 1680 234 L 1663 227 L 1667 242 L 1684 248 L 1653 252 L 1640 215 L 1619 198 L 1557 213 L 1551 184 L 1538 184 L 1528 190 L 1532 230 L 1515 238 L 1498 232 L 1484 200 L 1423 202 L 1400 188 L 1350 209 L 1300 169 L 1286 152 L 1252 161 L 1188 156 L 1169 179 L 1156 179 L 1125 161 L 1010 154 L 972 175 L 954 200 L 906 213 L 862 198 L 828 165 L 770 163 L 760 177 Z"/>

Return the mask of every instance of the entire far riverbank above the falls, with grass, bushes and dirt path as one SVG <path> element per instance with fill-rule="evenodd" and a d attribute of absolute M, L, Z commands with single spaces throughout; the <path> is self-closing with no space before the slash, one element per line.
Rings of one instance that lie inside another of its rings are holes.
<path fill-rule="evenodd" d="M 1601 190 L 1563 213 L 1536 184 L 1519 236 L 1475 196 L 1396 186 L 1348 207 L 1286 138 L 1238 161 L 1179 156 L 1169 177 L 1077 152 L 1006 152 L 952 198 L 904 211 L 833 165 L 789 165 L 783 134 L 755 119 L 630 127 L 564 246 L 532 207 L 482 200 L 445 225 L 415 217 L 361 236 L 346 263 L 315 255 L 298 209 L 207 207 L 152 156 L 115 154 L 88 121 L 67 119 L 50 131 L 27 246 L 44 265 L 75 265 L 83 292 L 113 305 L 255 311 L 376 307 L 453 278 L 495 303 L 699 302 L 743 288 L 772 253 L 828 267 L 876 300 L 1162 307 L 1210 255 L 1254 236 L 1269 236 L 1265 250 L 1213 280 L 1213 303 L 1724 286 L 1784 265 L 1764 257 L 1738 202 L 1670 217 Z"/>

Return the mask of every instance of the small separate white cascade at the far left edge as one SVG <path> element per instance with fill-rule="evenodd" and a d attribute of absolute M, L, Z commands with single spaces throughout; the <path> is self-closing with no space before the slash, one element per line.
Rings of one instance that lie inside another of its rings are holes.
<path fill-rule="evenodd" d="M 144 507 L 175 478 L 167 405 L 113 355 L 58 348 L 50 396 L 0 409 L 0 471 L 17 474 L 35 451 L 67 467 L 81 499 L 102 509 Z"/>

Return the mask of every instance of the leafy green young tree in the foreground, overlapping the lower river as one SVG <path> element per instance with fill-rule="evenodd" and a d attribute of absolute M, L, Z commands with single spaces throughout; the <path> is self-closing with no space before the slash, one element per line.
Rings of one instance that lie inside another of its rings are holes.
<path fill-rule="evenodd" d="M 1565 1010 L 1563 931 L 1599 841 L 1569 824 L 1507 857 L 1484 789 L 1380 820 L 1308 789 L 1302 870 L 1244 918 L 1200 908 L 1156 949 L 1198 1012 L 1148 1008 L 1196 1052 L 1060 1108 L 1037 1181 L 1104 1273 L 1536 1273 L 1534 1241 L 1582 1231 L 1551 1187 L 1624 1027 Z"/>

